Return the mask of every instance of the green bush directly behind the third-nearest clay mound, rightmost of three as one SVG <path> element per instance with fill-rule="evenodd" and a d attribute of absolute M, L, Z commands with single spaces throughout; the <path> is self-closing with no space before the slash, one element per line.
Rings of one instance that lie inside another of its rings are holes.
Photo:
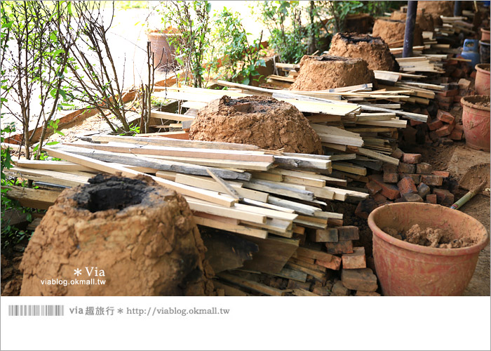
<path fill-rule="evenodd" d="M 281 62 L 296 63 L 307 53 L 299 1 L 261 1 L 252 10 L 254 14 L 260 12 L 260 19 L 269 29 L 269 46 Z"/>

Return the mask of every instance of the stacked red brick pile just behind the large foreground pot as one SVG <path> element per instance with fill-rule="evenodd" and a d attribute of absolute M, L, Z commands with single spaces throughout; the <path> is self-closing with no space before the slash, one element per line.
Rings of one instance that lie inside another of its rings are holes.
<path fill-rule="evenodd" d="M 383 174 L 368 176 L 370 182 L 366 188 L 370 198 L 358 204 L 356 216 L 366 219 L 375 208 L 394 202 L 427 202 L 443 206 L 454 203 L 452 192 L 439 188 L 450 176 L 448 172 L 433 171 L 431 164 L 421 161 L 421 154 L 405 154 L 397 149 L 391 156 L 400 160 L 399 165 L 386 163 Z"/>

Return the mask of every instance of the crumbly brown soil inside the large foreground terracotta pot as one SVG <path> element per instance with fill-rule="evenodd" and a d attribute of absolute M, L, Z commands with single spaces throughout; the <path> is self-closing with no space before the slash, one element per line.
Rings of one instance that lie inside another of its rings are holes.
<path fill-rule="evenodd" d="M 429 246 L 438 249 L 459 249 L 472 246 L 476 241 L 469 237 L 454 239 L 452 233 L 433 228 L 422 228 L 418 224 L 410 227 L 409 230 L 401 231 L 394 228 L 385 228 L 384 232 L 399 240 L 407 241 L 410 244 Z"/>

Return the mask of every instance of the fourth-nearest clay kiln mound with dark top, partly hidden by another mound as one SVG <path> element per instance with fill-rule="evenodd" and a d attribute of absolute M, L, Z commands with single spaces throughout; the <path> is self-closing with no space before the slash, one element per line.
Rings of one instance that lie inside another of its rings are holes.
<path fill-rule="evenodd" d="M 331 41 L 329 55 L 363 58 L 370 69 L 399 71 L 399 65 L 391 54 L 389 46 L 381 38 L 373 38 L 368 34 L 335 34 Z"/>

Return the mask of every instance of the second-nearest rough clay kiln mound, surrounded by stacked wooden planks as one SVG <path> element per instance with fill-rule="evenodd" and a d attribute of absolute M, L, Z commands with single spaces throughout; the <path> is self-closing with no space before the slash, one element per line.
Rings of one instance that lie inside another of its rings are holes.
<path fill-rule="evenodd" d="M 266 150 L 320 154 L 321 139 L 302 112 L 263 96 L 224 96 L 199 110 L 190 140 L 257 145 Z"/>

